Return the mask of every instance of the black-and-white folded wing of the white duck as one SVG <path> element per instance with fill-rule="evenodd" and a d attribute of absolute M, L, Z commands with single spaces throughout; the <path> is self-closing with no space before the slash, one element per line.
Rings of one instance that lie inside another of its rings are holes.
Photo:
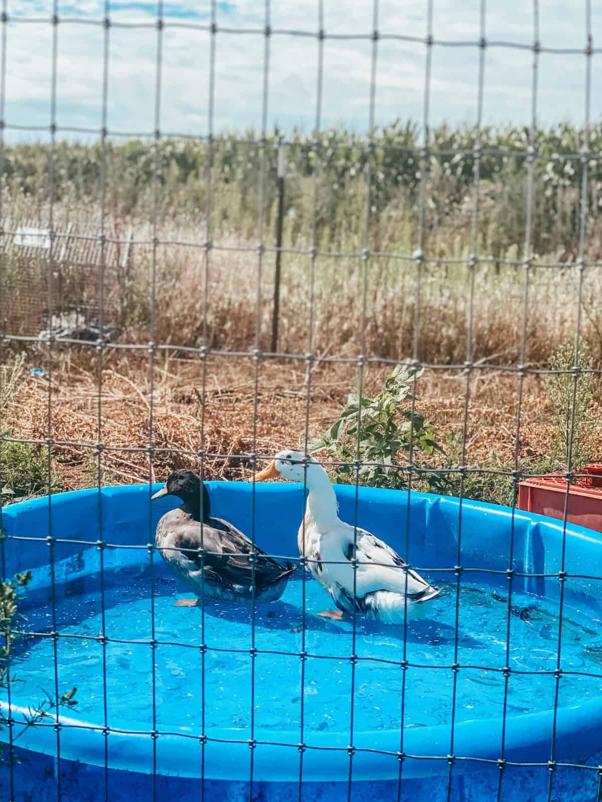
<path fill-rule="evenodd" d="M 351 529 L 353 529 L 351 527 Z M 353 558 L 353 544 L 345 555 Z M 365 529 L 357 528 L 356 556 L 358 560 L 356 593 L 364 596 L 376 590 L 391 590 L 418 600 L 433 593 L 420 574 L 413 569 L 403 570 L 408 565 L 390 545 Z M 407 576 L 407 585 L 406 585 Z"/>

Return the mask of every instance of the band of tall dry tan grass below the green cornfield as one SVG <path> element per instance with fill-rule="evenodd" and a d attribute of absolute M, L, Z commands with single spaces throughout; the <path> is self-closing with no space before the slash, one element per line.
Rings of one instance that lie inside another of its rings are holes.
<path fill-rule="evenodd" d="M 185 233 L 173 230 L 173 239 Z M 172 238 L 168 234 L 169 238 Z M 226 246 L 234 238 L 224 238 Z M 137 253 L 131 299 L 122 338 L 148 342 L 152 331 L 150 249 Z M 178 245 L 161 247 L 156 260 L 157 342 L 206 344 L 222 350 L 270 346 L 275 274 L 274 254 Z M 279 315 L 279 350 L 321 356 L 413 356 L 462 364 L 471 357 L 503 365 L 522 353 L 526 319 L 527 363 L 545 365 L 561 342 L 580 332 L 602 359 L 600 269 L 523 268 L 511 265 L 445 263 L 418 266 L 396 257 L 319 256 L 284 253 Z M 258 298 L 259 296 L 259 298 Z M 580 303 L 579 303 L 580 299 Z M 364 313 L 365 301 L 365 313 Z M 258 306 L 259 303 L 259 306 Z M 259 310 L 259 317 L 258 317 Z M 312 310 L 312 314 L 310 314 Z M 526 318 L 525 318 L 526 315 Z M 362 329 L 364 338 L 362 338 Z"/>

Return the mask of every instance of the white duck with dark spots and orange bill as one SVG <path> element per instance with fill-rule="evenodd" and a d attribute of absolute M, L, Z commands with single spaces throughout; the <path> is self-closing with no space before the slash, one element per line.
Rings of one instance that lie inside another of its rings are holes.
<path fill-rule="evenodd" d="M 255 480 L 282 476 L 304 481 L 309 489 L 304 524 L 299 527 L 297 537 L 299 553 L 307 557 L 311 574 L 330 593 L 338 608 L 320 615 L 344 618 L 344 614 L 353 614 L 355 606 L 356 612 L 366 618 L 398 624 L 404 622 L 407 607 L 408 618 L 422 617 L 428 602 L 441 590 L 429 585 L 412 569 L 404 570 L 407 563 L 399 554 L 365 529 L 358 526 L 355 535 L 353 526 L 339 518 L 339 504 L 327 472 L 312 457 L 307 457 L 306 471 L 305 459 L 302 452 L 279 452 Z"/>

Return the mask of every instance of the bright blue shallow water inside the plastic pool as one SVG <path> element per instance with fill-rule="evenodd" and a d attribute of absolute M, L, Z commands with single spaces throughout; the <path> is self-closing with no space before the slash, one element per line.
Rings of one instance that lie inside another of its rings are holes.
<path fill-rule="evenodd" d="M 246 739 L 262 728 L 291 733 L 296 741 L 302 715 L 307 731 L 346 732 L 350 726 L 353 653 L 352 625 L 319 618 L 332 605 L 317 582 L 300 572 L 287 585 L 280 602 L 257 606 L 252 641 L 248 607 L 207 602 L 198 608 L 175 607 L 177 597 L 192 597 L 179 581 L 157 565 L 154 577 L 153 650 L 151 574 L 146 568 L 121 569 L 105 576 L 107 717 L 112 727 L 153 727 L 153 660 L 157 729 L 190 727 L 209 734 L 212 727 L 233 728 Z M 302 649 L 303 584 L 306 595 L 304 663 Z M 506 657 L 507 603 L 487 586 L 462 581 L 459 594 L 458 655 L 455 656 L 457 592 L 433 602 L 432 618 L 404 627 L 357 619 L 354 729 L 399 729 L 402 703 L 405 727 L 449 723 L 458 662 L 456 721 L 502 715 L 504 676 L 508 683 L 507 714 L 554 707 L 558 605 L 539 597 L 513 594 L 510 653 Z M 104 723 L 103 630 L 100 578 L 79 579 L 57 589 L 57 661 L 59 692 L 77 687 L 75 716 Z M 28 593 L 22 605 L 23 632 L 48 633 L 53 628 L 48 590 Z M 205 632 L 203 634 L 202 626 Z M 588 610 L 564 606 L 561 638 L 563 672 L 590 672 L 596 677 L 564 673 L 559 706 L 582 703 L 602 691 L 602 657 L 588 645 L 600 631 L 600 619 Z M 73 637 L 79 636 L 79 637 Z M 81 637 L 86 636 L 86 637 Z M 130 642 L 118 642 L 126 640 Z M 205 722 L 203 725 L 203 656 L 205 642 Z M 258 650 L 252 658 L 250 648 Z M 405 654 L 404 654 L 405 650 Z M 270 654 L 262 652 L 269 651 Z M 288 654 L 274 654 L 284 652 Z M 420 667 L 401 670 L 404 659 Z M 389 662 L 380 662 L 389 661 Z M 396 664 L 397 663 L 397 664 Z M 55 687 L 55 655 L 51 638 L 23 634 L 15 645 L 13 687 L 18 703 L 37 702 Z M 473 667 L 464 667 L 473 666 Z"/>

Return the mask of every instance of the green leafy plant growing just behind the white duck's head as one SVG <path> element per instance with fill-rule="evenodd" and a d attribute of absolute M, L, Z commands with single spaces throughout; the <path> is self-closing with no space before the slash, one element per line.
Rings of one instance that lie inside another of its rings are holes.
<path fill-rule="evenodd" d="M 398 365 L 384 381 L 384 390 L 373 398 L 352 393 L 340 417 L 322 435 L 310 439 L 307 451 L 327 452 L 335 462 L 336 480 L 355 484 L 356 459 L 363 484 L 375 488 L 405 488 L 407 462 L 401 455 L 416 452 L 431 456 L 441 451 L 433 426 L 413 410 L 413 383 L 421 375 L 406 363 Z M 359 432 L 359 434 L 358 434 Z"/>

